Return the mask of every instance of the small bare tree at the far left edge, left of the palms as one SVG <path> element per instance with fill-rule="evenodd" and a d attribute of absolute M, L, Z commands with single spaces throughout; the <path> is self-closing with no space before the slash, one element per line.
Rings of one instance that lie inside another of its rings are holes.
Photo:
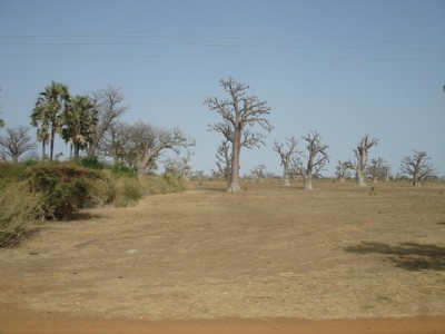
<path fill-rule="evenodd" d="M 29 136 L 29 128 L 8 128 L 4 136 L 0 136 L 0 154 L 10 157 L 16 164 L 21 155 L 36 149 L 36 143 Z"/>

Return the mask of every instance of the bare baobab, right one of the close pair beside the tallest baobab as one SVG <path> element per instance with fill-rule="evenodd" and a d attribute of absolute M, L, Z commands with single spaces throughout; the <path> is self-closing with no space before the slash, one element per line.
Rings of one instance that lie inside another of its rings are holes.
<path fill-rule="evenodd" d="M 329 156 L 327 155 L 329 146 L 322 144 L 322 136 L 317 131 L 312 131 L 301 138 L 307 143 L 307 154 L 300 154 L 297 168 L 305 178 L 305 190 L 312 190 L 313 177 L 318 177 L 322 169 L 329 163 Z"/>

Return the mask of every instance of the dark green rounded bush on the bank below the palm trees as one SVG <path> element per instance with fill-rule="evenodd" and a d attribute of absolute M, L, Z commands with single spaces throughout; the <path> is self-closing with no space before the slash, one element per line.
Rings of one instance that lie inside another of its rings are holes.
<path fill-rule="evenodd" d="M 30 167 L 29 185 L 32 191 L 43 195 L 47 218 L 67 219 L 79 208 L 91 207 L 109 198 L 109 187 L 102 174 L 70 163 Z"/>

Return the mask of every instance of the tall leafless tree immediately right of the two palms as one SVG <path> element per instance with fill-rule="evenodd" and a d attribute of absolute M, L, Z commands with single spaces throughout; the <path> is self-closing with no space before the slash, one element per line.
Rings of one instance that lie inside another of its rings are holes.
<path fill-rule="evenodd" d="M 95 156 L 98 154 L 98 150 L 103 154 L 103 149 L 109 147 L 106 145 L 107 143 L 103 143 L 103 140 L 107 141 L 106 134 L 115 125 L 116 120 L 127 111 L 128 107 L 123 105 L 125 97 L 120 88 L 112 88 L 110 86 L 93 91 L 90 100 L 93 105 L 92 110 L 96 124 L 91 129 L 91 143 L 88 147 L 88 155 Z"/>

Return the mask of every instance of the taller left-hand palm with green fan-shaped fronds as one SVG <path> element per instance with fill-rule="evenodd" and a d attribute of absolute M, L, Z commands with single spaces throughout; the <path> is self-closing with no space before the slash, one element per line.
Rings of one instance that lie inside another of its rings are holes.
<path fill-rule="evenodd" d="M 31 114 L 31 125 L 38 127 L 38 139 L 42 141 L 42 154 L 44 159 L 44 147 L 50 140 L 50 155 L 52 160 L 55 151 L 55 137 L 60 131 L 61 115 L 68 107 L 70 95 L 68 86 L 52 81 L 47 86 L 36 101 L 36 107 Z"/>

